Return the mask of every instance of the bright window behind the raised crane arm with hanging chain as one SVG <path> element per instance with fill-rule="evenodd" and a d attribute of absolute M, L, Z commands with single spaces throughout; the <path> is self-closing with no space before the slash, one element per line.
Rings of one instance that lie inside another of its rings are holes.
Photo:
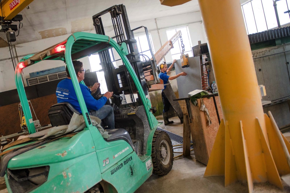
<path fill-rule="evenodd" d="M 181 31 L 182 34 L 182 42 L 184 44 L 184 54 L 188 54 L 189 57 L 192 57 L 192 45 L 191 45 L 191 39 L 190 39 L 190 35 L 189 35 L 189 30 L 188 27 L 181 27 L 181 28 L 177 28 L 177 29 L 173 29 L 173 30 L 166 30 L 166 34 L 167 34 L 167 39 L 170 40 L 174 34 L 176 34 L 176 32 Z M 182 47 L 181 47 L 181 41 L 180 38 L 178 38 L 178 40 L 173 44 L 173 48 L 170 50 L 171 52 L 171 57 L 172 57 L 172 61 L 174 59 L 179 59 L 180 55 L 182 54 Z"/>

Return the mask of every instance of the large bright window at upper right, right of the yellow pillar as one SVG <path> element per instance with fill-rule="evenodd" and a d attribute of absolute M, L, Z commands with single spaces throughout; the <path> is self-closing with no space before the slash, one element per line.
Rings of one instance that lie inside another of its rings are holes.
<path fill-rule="evenodd" d="M 290 0 L 279 0 L 277 11 L 280 25 L 290 23 Z M 251 0 L 241 6 L 247 34 L 263 32 L 278 27 L 273 0 Z"/>

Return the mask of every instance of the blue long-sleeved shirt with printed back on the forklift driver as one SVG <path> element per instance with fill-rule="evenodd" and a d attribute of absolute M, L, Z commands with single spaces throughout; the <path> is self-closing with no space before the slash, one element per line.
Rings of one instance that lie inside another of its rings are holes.
<path fill-rule="evenodd" d="M 79 83 L 79 87 L 81 87 L 81 93 L 84 96 L 88 111 L 97 111 L 101 109 L 107 102 L 106 97 L 101 97 L 99 100 L 94 99 L 91 95 L 90 89 L 88 89 L 88 87 L 84 84 Z M 77 100 L 77 94 L 75 93 L 75 89 L 73 87 L 73 82 L 71 79 L 66 78 L 64 80 L 61 80 L 57 84 L 55 94 L 57 97 L 57 103 L 68 102 L 75 108 L 75 110 L 79 111 L 79 113 L 82 114 L 81 107 L 79 106 L 79 101 Z"/>

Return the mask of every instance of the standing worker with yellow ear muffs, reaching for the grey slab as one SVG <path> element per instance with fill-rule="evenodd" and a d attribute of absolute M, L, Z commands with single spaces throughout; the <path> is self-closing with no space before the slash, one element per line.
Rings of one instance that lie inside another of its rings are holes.
<path fill-rule="evenodd" d="M 158 77 L 163 80 L 163 84 L 167 84 L 168 80 L 174 80 L 179 76 L 186 76 L 187 74 L 185 72 L 181 72 L 177 75 L 174 76 L 168 76 L 167 73 L 171 71 L 174 63 L 176 62 L 176 60 L 173 60 L 173 63 L 169 66 L 169 68 L 167 68 L 167 64 L 161 63 L 159 65 L 159 69 L 160 69 L 160 74 L 158 75 Z M 164 85 L 164 89 L 166 89 L 166 85 Z M 164 93 L 164 89 L 162 89 L 161 92 L 161 96 L 162 96 L 162 101 L 163 101 L 163 120 L 164 120 L 164 125 L 168 125 L 168 124 L 172 124 L 173 121 L 169 121 L 168 120 L 168 111 L 169 111 L 169 107 L 170 107 L 170 102 L 168 101 L 165 93 Z"/>

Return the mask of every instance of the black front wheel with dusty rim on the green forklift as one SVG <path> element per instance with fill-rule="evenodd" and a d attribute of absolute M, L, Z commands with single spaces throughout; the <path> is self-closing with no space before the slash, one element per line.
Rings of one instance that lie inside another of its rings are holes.
<path fill-rule="evenodd" d="M 173 165 L 173 146 L 167 133 L 155 130 L 152 140 L 153 174 L 166 175 Z"/>

